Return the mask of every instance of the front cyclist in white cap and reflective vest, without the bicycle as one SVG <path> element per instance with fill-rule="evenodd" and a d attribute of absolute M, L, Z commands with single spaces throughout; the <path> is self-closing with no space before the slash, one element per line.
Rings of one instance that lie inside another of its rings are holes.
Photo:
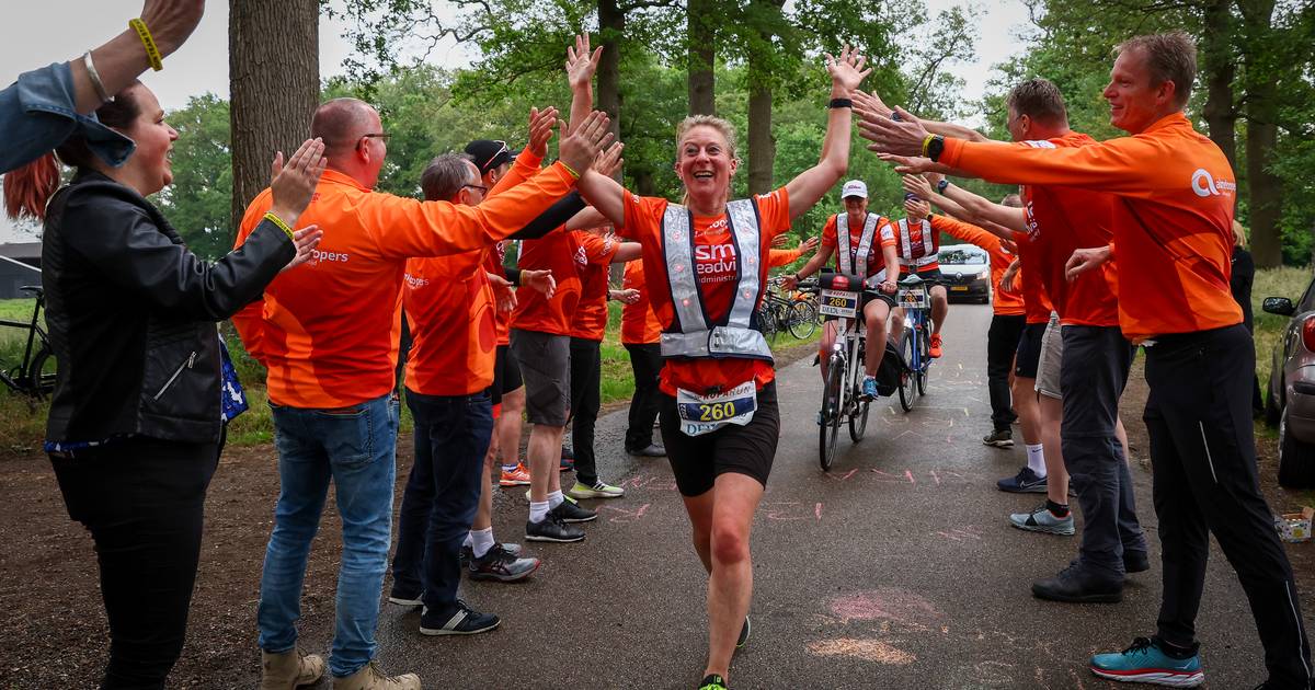
<path fill-rule="evenodd" d="M 863 322 L 867 340 L 863 354 L 864 376 L 863 394 L 877 397 L 877 369 L 886 351 L 886 319 L 896 306 L 893 297 L 896 281 L 899 280 L 899 262 L 896 252 L 896 235 L 889 219 L 868 213 L 868 185 L 863 180 L 849 180 L 840 189 L 844 213 L 827 218 L 822 229 L 822 248 L 803 264 L 793 276 L 782 281 L 785 289 L 794 289 L 800 280 L 811 276 L 826 265 L 832 254 L 836 255 L 836 269 L 842 273 L 856 273 L 864 277 L 861 297 Z M 847 231 L 838 231 L 839 227 Z M 838 251 L 839 238 L 844 238 L 843 248 Z M 880 247 L 880 248 L 878 248 Z M 878 262 L 878 255 L 884 262 Z M 827 352 L 835 343 L 839 326 L 827 317 L 819 343 L 822 380 L 827 375 Z"/>

